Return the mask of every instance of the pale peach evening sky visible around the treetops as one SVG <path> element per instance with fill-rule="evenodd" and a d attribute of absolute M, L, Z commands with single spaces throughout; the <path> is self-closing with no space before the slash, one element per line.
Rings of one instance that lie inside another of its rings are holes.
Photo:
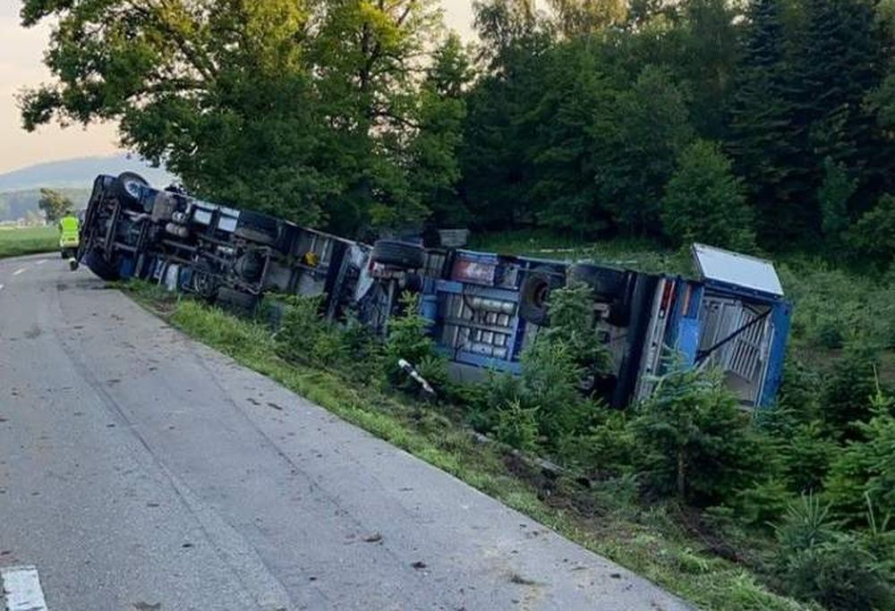
<path fill-rule="evenodd" d="M 441 0 L 447 26 L 465 38 L 472 35 L 473 0 Z M 71 157 L 110 155 L 118 151 L 114 124 L 62 129 L 47 125 L 37 132 L 21 129 L 15 97 L 22 89 L 50 80 L 42 63 L 49 29 L 25 30 L 19 24 L 21 0 L 0 0 L 0 174 Z"/>

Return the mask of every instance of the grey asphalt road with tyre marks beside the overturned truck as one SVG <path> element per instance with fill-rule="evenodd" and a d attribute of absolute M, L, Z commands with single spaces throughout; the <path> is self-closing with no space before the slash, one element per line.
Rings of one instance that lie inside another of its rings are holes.
<path fill-rule="evenodd" d="M 0 569 L 53 611 L 687 608 L 57 256 L 0 285 Z"/>

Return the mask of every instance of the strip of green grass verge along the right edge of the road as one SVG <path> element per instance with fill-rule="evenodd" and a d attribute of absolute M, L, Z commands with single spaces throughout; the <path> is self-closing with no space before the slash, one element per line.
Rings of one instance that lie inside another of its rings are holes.
<path fill-rule="evenodd" d="M 186 335 L 318 403 L 344 420 L 464 480 L 505 505 L 623 564 L 703 609 L 810 609 L 767 590 L 743 565 L 713 556 L 703 539 L 679 524 L 674 505 L 643 509 L 616 491 L 587 489 L 540 471 L 497 444 L 482 444 L 447 409 L 361 385 L 335 371 L 312 369 L 277 356 L 268 327 L 235 318 L 148 284 L 125 291 Z"/>

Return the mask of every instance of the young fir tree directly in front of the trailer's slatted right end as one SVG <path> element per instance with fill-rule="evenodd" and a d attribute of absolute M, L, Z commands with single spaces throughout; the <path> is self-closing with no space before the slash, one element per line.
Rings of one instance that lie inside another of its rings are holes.
<path fill-rule="evenodd" d="M 654 493 L 714 505 L 761 475 L 749 419 L 720 372 L 672 369 L 635 409 L 636 463 Z"/>

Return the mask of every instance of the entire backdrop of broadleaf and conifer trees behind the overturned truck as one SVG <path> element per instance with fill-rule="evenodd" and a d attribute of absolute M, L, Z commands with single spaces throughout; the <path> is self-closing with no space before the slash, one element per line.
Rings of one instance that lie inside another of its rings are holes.
<path fill-rule="evenodd" d="M 344 233 L 704 234 L 673 201 L 757 247 L 858 257 L 856 227 L 895 194 L 890 2 L 480 0 L 473 48 L 434 0 L 27 0 L 21 17 L 58 20 L 26 127 L 117 120 L 194 191 Z M 695 188 L 710 176 L 720 191 Z"/>

